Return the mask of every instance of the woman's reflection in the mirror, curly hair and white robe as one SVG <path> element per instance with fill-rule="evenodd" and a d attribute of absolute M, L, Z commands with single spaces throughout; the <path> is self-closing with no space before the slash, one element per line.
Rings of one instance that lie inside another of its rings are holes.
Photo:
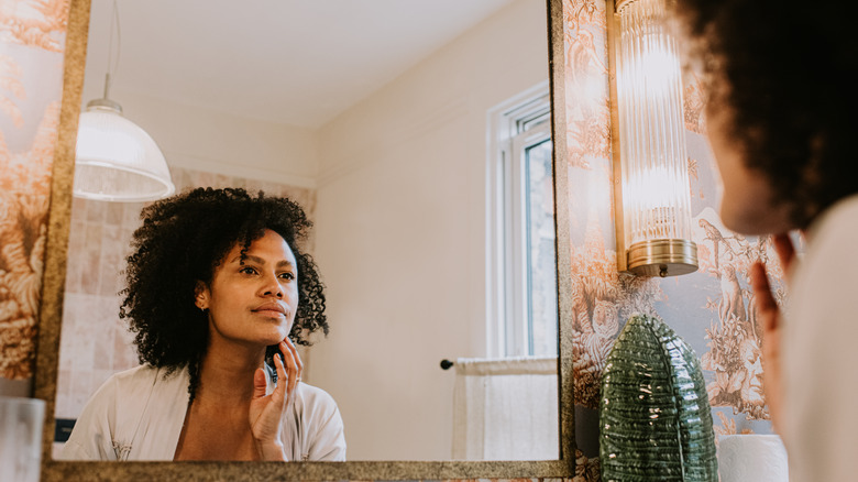
<path fill-rule="evenodd" d="M 344 460 L 337 404 L 300 382 L 295 343 L 328 333 L 301 208 L 199 188 L 142 218 L 120 317 L 144 364 L 99 388 L 63 458 Z"/>

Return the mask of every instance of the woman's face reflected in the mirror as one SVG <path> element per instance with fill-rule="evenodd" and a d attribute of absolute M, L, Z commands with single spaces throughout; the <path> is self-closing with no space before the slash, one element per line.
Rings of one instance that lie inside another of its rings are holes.
<path fill-rule="evenodd" d="M 266 347 L 289 333 L 298 308 L 295 254 L 276 232 L 266 230 L 241 260 L 241 244 L 215 269 L 210 286 L 200 284 L 196 304 L 209 310 L 211 342 Z"/>

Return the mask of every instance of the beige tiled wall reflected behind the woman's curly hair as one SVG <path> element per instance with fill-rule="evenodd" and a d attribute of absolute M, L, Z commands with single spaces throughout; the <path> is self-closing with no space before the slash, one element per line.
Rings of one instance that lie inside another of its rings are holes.
<path fill-rule="evenodd" d="M 243 187 L 249 191 L 286 196 L 314 218 L 312 189 L 240 177 L 172 169 L 176 190 L 190 187 Z M 119 319 L 123 287 L 120 274 L 130 241 L 140 224 L 142 202 L 74 199 L 63 328 L 59 342 L 57 418 L 77 418 L 90 395 L 112 374 L 139 364 L 133 335 Z M 312 240 L 306 247 L 312 251 Z"/>

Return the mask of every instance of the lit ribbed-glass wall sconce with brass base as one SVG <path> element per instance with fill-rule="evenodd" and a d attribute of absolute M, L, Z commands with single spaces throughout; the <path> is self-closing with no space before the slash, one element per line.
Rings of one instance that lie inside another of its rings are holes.
<path fill-rule="evenodd" d="M 697 270 L 682 72 L 666 18 L 664 0 L 607 0 L 617 265 L 662 277 Z"/>

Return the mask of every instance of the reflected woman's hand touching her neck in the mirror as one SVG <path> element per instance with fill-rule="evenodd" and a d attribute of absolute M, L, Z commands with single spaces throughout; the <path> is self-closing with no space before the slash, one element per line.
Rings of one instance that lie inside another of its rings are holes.
<path fill-rule="evenodd" d="M 274 355 L 277 370 L 277 386 L 265 395 L 267 386 L 265 372 L 256 369 L 253 374 L 253 399 L 250 406 L 250 424 L 256 451 L 262 460 L 288 460 L 283 448 L 283 423 L 295 399 L 295 387 L 301 380 L 301 359 L 298 350 L 287 337 L 279 343 L 279 353 Z M 285 363 L 284 363 L 285 360 Z"/>

